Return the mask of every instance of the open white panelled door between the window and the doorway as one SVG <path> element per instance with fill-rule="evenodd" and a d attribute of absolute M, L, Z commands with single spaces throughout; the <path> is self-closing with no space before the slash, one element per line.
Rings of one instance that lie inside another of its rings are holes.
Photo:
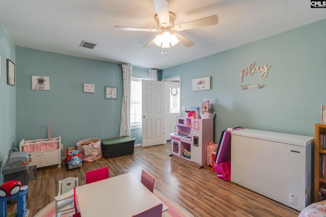
<path fill-rule="evenodd" d="M 164 82 L 142 81 L 142 114 L 142 146 L 164 144 Z"/>

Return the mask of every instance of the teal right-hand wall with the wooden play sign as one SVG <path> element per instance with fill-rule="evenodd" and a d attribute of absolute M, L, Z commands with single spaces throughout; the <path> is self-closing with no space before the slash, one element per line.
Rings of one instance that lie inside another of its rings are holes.
<path fill-rule="evenodd" d="M 213 103 L 215 142 L 222 130 L 238 126 L 314 136 L 326 104 L 325 36 L 326 19 L 165 69 L 162 75 L 181 75 L 185 108 L 199 107 L 204 99 Z M 269 65 L 267 77 L 255 73 L 240 83 L 240 70 L 251 62 Z M 211 76 L 211 89 L 193 91 L 192 79 L 205 76 Z M 240 90 L 243 84 L 264 87 Z"/>

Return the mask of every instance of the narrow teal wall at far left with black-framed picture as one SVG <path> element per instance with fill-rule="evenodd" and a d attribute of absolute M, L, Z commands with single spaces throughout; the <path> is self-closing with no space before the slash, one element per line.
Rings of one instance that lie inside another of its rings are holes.
<path fill-rule="evenodd" d="M 0 168 L 6 163 L 9 149 L 16 143 L 16 86 L 7 84 L 7 58 L 13 63 L 15 58 L 15 45 L 6 30 L 0 25 Z M 3 175 L 0 173 L 0 183 Z"/>

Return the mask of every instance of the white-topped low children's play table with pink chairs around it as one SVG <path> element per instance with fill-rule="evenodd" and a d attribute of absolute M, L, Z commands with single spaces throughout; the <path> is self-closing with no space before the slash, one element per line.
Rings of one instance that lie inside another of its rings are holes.
<path fill-rule="evenodd" d="M 83 217 L 132 214 L 162 203 L 131 173 L 110 177 L 76 188 L 80 214 Z M 162 211 L 168 207 L 163 204 Z"/>

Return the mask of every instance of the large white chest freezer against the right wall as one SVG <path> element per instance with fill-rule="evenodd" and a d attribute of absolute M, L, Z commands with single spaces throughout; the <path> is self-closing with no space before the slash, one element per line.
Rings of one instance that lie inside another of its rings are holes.
<path fill-rule="evenodd" d="M 312 201 L 313 137 L 242 129 L 231 133 L 231 181 L 302 211 Z"/>

